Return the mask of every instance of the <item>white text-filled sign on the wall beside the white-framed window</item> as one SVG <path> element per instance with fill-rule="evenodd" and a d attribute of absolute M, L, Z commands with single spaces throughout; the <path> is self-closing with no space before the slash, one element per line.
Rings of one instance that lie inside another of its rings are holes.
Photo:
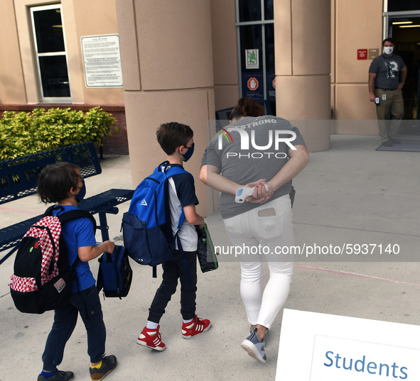
<path fill-rule="evenodd" d="M 122 87 L 119 36 L 90 35 L 80 42 L 86 87 Z"/>

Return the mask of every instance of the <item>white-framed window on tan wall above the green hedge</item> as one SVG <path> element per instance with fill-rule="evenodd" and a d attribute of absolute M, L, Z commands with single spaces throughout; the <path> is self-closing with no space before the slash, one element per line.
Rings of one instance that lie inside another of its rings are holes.
<path fill-rule="evenodd" d="M 70 102 L 61 5 L 31 8 L 41 101 Z"/>

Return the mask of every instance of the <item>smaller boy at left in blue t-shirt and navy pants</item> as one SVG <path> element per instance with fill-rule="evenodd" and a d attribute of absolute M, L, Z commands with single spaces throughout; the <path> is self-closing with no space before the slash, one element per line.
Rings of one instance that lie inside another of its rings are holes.
<path fill-rule="evenodd" d="M 80 170 L 67 162 L 49 165 L 41 172 L 38 180 L 38 194 L 45 204 L 57 203 L 53 216 L 77 209 L 86 193 Z M 54 323 L 45 343 L 42 356 L 43 371 L 38 381 L 70 381 L 73 372 L 57 370 L 63 360 L 65 344 L 75 329 L 80 314 L 87 332 L 87 353 L 90 356 L 90 377 L 102 380 L 117 367 L 114 355 L 104 356 L 106 329 L 101 303 L 95 287 L 95 278 L 90 271 L 89 260 L 99 257 L 105 251 L 112 253 L 114 243 L 105 241 L 96 246 L 94 226 L 87 218 L 73 219 L 63 223 L 62 234 L 68 248 L 70 267 L 75 266 L 75 280 L 70 301 L 64 307 L 54 310 Z"/>

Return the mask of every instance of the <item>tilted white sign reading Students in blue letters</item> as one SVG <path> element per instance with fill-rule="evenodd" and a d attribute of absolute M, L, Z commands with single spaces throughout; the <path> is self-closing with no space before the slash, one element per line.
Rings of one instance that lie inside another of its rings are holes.
<path fill-rule="evenodd" d="M 276 381 L 420 380 L 420 326 L 285 309 Z"/>

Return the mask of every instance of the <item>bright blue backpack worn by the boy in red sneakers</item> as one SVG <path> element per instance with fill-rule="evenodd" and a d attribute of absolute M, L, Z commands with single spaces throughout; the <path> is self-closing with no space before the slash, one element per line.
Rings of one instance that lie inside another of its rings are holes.
<path fill-rule="evenodd" d="M 122 217 L 124 247 L 128 255 L 141 265 L 160 265 L 173 258 L 175 240 L 169 209 L 169 177 L 188 173 L 182 167 L 168 167 L 163 162 L 134 191 L 129 211 Z M 182 211 L 178 228 L 185 220 Z M 178 248 L 180 248 L 178 238 Z M 182 248 L 180 248 L 182 251 Z"/>

